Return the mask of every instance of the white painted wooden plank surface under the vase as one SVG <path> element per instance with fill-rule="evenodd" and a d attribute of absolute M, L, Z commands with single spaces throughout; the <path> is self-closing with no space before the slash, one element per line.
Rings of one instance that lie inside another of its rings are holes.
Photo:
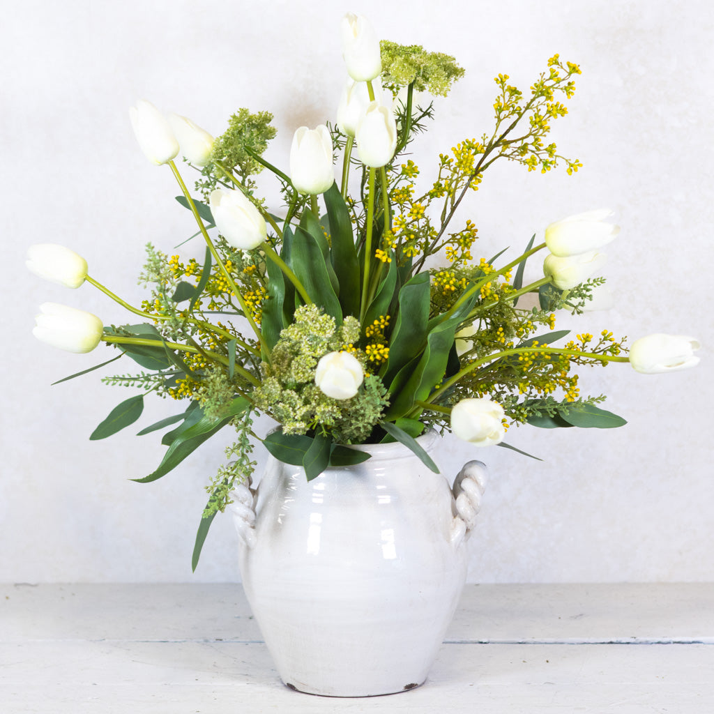
<path fill-rule="evenodd" d="M 467 585 L 423 687 L 321 698 L 240 585 L 4 585 L 0 712 L 710 714 L 712 645 L 714 584 Z"/>

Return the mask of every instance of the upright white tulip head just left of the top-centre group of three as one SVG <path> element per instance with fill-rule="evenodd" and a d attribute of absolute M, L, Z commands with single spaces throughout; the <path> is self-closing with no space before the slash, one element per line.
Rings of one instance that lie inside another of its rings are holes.
<path fill-rule="evenodd" d="M 335 183 L 332 138 L 324 124 L 317 129 L 301 126 L 290 147 L 290 178 L 296 191 L 316 196 Z"/>

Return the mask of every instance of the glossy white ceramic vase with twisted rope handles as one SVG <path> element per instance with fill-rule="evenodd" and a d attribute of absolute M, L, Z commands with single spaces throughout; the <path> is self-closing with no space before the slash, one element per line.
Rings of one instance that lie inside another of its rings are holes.
<path fill-rule="evenodd" d="M 440 442 L 419 439 L 427 453 Z M 486 479 L 471 461 L 453 489 L 398 443 L 306 481 L 271 457 L 231 507 L 248 602 L 282 680 L 369 696 L 416 687 L 466 580 L 466 536 Z"/>

